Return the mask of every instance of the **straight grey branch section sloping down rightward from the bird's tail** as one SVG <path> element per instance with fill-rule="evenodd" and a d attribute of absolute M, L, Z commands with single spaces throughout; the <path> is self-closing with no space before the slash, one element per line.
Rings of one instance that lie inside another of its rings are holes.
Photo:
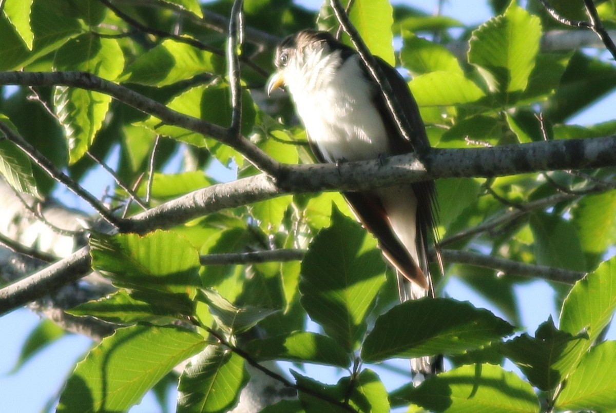
<path fill-rule="evenodd" d="M 517 262 L 492 255 L 477 254 L 469 251 L 456 251 L 441 249 L 440 254 L 447 262 L 476 265 L 477 267 L 490 268 L 502 271 L 509 275 L 517 275 L 527 278 L 541 278 L 558 283 L 574 284 L 583 278 L 585 273 L 565 270 L 564 268 L 548 267 L 546 265 L 533 265 Z"/>

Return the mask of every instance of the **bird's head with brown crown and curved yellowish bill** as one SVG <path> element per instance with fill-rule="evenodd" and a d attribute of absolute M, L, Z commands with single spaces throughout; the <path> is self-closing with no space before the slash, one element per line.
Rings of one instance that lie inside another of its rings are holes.
<path fill-rule="evenodd" d="M 302 30 L 286 37 L 276 48 L 276 72 L 267 84 L 267 94 L 282 86 L 289 87 L 293 93 L 294 87 L 315 84 L 338 57 L 332 53 L 338 44 L 326 31 Z"/>

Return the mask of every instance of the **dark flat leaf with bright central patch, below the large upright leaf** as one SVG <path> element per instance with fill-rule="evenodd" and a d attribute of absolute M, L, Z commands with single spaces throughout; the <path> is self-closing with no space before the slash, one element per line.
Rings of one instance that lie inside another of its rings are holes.
<path fill-rule="evenodd" d="M 298 363 L 329 364 L 349 367 L 349 355 L 338 343 L 325 335 L 311 332 L 292 332 L 266 339 L 256 339 L 243 347 L 257 361 L 286 360 Z"/>

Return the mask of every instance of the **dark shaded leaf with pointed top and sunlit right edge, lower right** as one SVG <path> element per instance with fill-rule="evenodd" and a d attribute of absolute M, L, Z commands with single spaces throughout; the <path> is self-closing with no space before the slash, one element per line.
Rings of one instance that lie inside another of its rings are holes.
<path fill-rule="evenodd" d="M 585 335 L 573 336 L 557 330 L 550 317 L 539 326 L 535 338 L 523 334 L 503 343 L 500 349 L 520 367 L 530 383 L 548 391 L 575 368 L 580 350 L 586 348 L 587 342 Z"/>

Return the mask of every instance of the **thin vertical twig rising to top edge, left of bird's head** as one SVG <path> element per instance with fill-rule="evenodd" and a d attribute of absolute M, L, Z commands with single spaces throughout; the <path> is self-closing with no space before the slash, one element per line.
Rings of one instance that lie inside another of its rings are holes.
<path fill-rule="evenodd" d="M 239 135 L 241 128 L 241 83 L 240 59 L 241 42 L 243 38 L 242 7 L 243 0 L 233 1 L 231 18 L 229 20 L 229 40 L 227 41 L 227 65 L 229 66 L 229 86 L 231 87 L 231 126 L 230 135 Z"/>

